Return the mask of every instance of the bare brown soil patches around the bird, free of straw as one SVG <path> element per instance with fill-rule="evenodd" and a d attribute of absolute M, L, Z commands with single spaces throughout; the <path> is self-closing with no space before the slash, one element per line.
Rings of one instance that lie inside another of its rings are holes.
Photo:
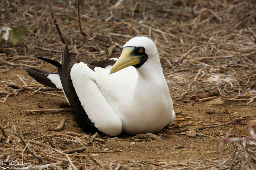
<path fill-rule="evenodd" d="M 44 67 L 45 68 L 45 67 Z M 47 67 L 46 67 L 47 68 Z M 14 82 L 15 84 L 22 85 L 21 81 L 17 78 L 15 74 L 19 74 L 25 82 L 28 84 L 34 82 L 30 78 L 24 69 L 12 69 L 8 73 L 1 73 L 1 81 Z M 61 94 L 61 93 L 57 93 Z M 78 124 L 75 122 L 71 112 L 60 112 L 60 113 L 42 113 L 42 114 L 26 114 L 26 110 L 39 110 L 39 109 L 50 109 L 50 108 L 60 108 L 60 103 L 65 102 L 65 99 L 47 96 L 42 94 L 34 94 L 26 98 L 28 93 L 26 91 L 19 92 L 17 96 L 9 98 L 5 104 L 0 105 L 1 113 L 1 123 L 4 126 L 15 125 L 17 129 L 20 129 L 24 133 L 24 137 L 29 140 L 40 135 L 49 134 L 49 131 L 46 131 L 48 127 L 57 127 L 62 118 L 67 118 L 67 122 L 63 131 L 72 131 L 84 134 L 84 132 L 78 127 Z M 171 94 L 173 98 L 178 97 L 180 94 L 174 93 Z M 189 103 L 185 102 L 176 102 L 174 103 L 183 105 L 174 105 L 174 110 L 177 113 L 185 113 L 185 115 L 177 114 L 178 116 L 187 116 L 191 117 L 188 120 L 193 121 L 192 126 L 187 126 L 184 128 L 196 129 L 198 127 L 204 127 L 204 124 L 211 123 L 225 123 L 230 121 L 228 114 L 221 113 L 223 109 L 222 106 L 210 106 L 216 110 L 215 114 L 206 114 L 207 102 L 197 103 L 190 101 Z M 192 103 L 192 104 L 191 104 Z M 247 115 L 252 115 L 255 113 L 255 106 L 239 106 L 236 104 L 244 104 L 242 102 L 225 102 L 232 105 L 227 105 L 228 109 L 232 112 L 234 118 L 236 117 L 246 117 Z M 43 106 L 43 108 L 39 108 Z M 189 106 L 190 105 L 190 106 Z M 210 116 L 210 118 L 209 118 Z M 253 118 L 253 117 L 252 117 Z M 209 120 L 208 120 L 209 119 Z M 250 120 L 249 118 L 248 120 Z M 187 123 L 188 121 L 179 121 L 180 123 Z M 232 125 L 221 126 L 217 128 L 207 128 L 198 133 L 205 135 L 220 135 L 224 134 L 231 128 Z M 238 125 L 241 129 L 246 130 L 246 125 Z M 182 128 L 180 128 L 182 129 Z M 243 133 L 241 133 L 243 134 Z M 127 139 L 128 136 L 120 135 L 119 137 Z M 190 138 L 185 135 L 177 136 L 176 134 L 167 135 L 166 140 L 157 141 L 145 141 L 145 142 L 136 142 L 131 144 L 133 141 L 113 141 L 109 140 L 103 144 L 95 144 L 89 146 L 88 150 L 104 150 L 108 148 L 109 150 L 123 150 L 123 152 L 116 153 L 101 153 L 98 157 L 99 160 L 109 161 L 109 160 L 161 160 L 161 161 L 194 161 L 194 162 L 207 162 L 212 161 L 213 158 L 223 158 L 227 155 L 221 155 L 215 153 L 217 148 L 216 141 L 207 137 L 197 137 Z M 220 136 L 214 136 L 214 138 L 219 139 Z M 71 144 L 58 143 L 56 146 L 58 148 L 66 150 L 72 149 Z M 175 147 L 175 145 L 177 147 Z M 224 152 L 230 151 L 234 148 L 236 144 L 229 144 L 229 146 L 224 149 Z M 79 148 L 79 145 L 76 146 Z M 232 153 L 232 151 L 230 151 Z"/>

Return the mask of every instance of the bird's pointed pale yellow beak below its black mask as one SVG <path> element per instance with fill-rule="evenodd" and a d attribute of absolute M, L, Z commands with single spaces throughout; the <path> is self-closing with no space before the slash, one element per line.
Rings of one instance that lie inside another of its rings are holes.
<path fill-rule="evenodd" d="M 120 55 L 119 59 L 111 68 L 109 74 L 115 73 L 125 67 L 133 66 L 140 63 L 140 55 L 133 56 L 132 52 L 134 47 L 124 47 L 122 54 Z"/>

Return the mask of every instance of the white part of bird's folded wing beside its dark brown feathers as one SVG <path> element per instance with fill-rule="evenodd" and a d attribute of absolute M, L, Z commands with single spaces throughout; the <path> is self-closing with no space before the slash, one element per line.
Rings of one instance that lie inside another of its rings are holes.
<path fill-rule="evenodd" d="M 97 73 L 92 69 L 95 65 L 92 67 L 83 62 L 74 64 L 70 70 L 73 87 L 94 126 L 106 135 L 119 135 L 122 122 L 95 82 L 100 82 Z"/>

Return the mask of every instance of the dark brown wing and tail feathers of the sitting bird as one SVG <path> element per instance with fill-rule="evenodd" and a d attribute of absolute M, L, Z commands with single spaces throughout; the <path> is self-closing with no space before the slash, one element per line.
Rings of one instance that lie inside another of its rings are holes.
<path fill-rule="evenodd" d="M 76 94 L 76 90 L 73 87 L 73 83 L 70 77 L 70 71 L 74 64 L 80 63 L 80 62 L 88 64 L 89 68 L 94 70 L 95 67 L 105 68 L 106 66 L 114 65 L 116 60 L 107 59 L 107 60 L 94 61 L 94 62 L 89 62 L 88 60 L 85 60 L 85 59 L 71 60 L 67 44 L 65 45 L 62 52 L 61 64 L 55 60 L 51 60 L 48 58 L 42 58 L 42 57 L 38 57 L 38 58 L 58 67 L 58 72 L 59 72 L 63 91 L 69 101 L 69 104 L 72 109 L 72 113 L 74 115 L 75 120 L 79 124 L 79 126 L 84 131 L 87 131 L 87 132 L 94 133 L 98 131 L 98 129 L 94 126 L 94 124 L 88 118 L 86 112 L 84 111 L 84 108 L 81 105 L 81 102 Z M 39 83 L 56 88 L 56 86 L 47 78 L 47 76 L 49 74 L 57 74 L 57 73 L 53 73 L 50 71 L 45 71 L 37 68 L 26 68 L 26 70 L 28 74 L 31 77 L 35 78 Z"/>

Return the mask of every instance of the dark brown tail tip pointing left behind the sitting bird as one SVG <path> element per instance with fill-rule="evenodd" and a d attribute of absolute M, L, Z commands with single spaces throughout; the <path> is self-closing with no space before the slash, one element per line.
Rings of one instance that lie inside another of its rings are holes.
<path fill-rule="evenodd" d="M 25 68 L 30 77 L 33 77 L 37 82 L 44 84 L 46 86 L 57 88 L 54 83 L 51 82 L 50 79 L 47 78 L 49 74 L 57 74 L 51 71 L 41 70 L 38 68 L 28 67 Z"/>

